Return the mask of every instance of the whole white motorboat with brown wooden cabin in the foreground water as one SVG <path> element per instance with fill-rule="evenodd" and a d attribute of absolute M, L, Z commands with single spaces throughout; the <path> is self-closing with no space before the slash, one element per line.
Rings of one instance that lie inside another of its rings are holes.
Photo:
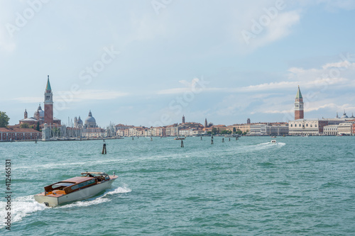
<path fill-rule="evenodd" d="M 34 198 L 38 203 L 44 203 L 45 206 L 50 207 L 82 200 L 111 188 L 112 182 L 117 177 L 115 174 L 111 176 L 104 172 L 84 172 L 82 176 L 45 186 L 45 191 L 36 194 Z"/>

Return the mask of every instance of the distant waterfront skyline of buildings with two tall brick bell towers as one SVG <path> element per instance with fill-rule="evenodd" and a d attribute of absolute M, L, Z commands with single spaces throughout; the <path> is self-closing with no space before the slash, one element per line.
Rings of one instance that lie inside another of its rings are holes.
<path fill-rule="evenodd" d="M 248 118 L 244 124 L 234 125 L 213 125 L 207 123 L 207 118 L 204 120 L 204 125 L 195 122 L 185 122 L 185 116 L 182 116 L 182 123 L 163 127 L 146 128 L 133 125 L 109 125 L 106 129 L 97 126 L 92 112 L 84 120 L 75 117 L 74 125 L 61 124 L 61 120 L 53 117 L 53 92 L 50 86 L 49 76 L 47 86 L 45 88 L 45 100 L 43 111 L 41 106 L 38 106 L 34 116 L 28 118 L 28 113 L 25 110 L 24 118 L 20 120 L 18 125 L 13 125 L 10 128 L 0 128 L 0 141 L 11 140 L 50 140 L 58 137 L 80 137 L 80 138 L 100 138 L 100 137 L 136 137 L 136 136 L 200 136 L 209 135 L 211 133 L 244 133 L 246 135 L 355 135 L 355 118 L 354 115 L 350 118 L 344 114 L 339 118 L 322 118 L 322 119 L 305 119 L 303 98 L 298 86 L 295 98 L 295 120 L 290 120 L 288 123 L 251 123 Z M 21 128 L 22 124 L 34 127 L 39 125 L 42 133 L 33 128 Z"/>

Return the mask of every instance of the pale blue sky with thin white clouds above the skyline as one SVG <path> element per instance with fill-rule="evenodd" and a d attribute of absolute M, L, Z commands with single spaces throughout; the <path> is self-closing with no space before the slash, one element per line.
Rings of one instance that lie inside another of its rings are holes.
<path fill-rule="evenodd" d="M 355 113 L 352 0 L 0 0 L 0 111 L 97 125 Z"/>

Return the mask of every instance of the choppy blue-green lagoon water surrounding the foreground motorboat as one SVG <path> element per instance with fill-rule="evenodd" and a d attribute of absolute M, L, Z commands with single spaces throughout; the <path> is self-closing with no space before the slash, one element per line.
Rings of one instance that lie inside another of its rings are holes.
<path fill-rule="evenodd" d="M 11 159 L 11 232 L 0 235 L 355 235 L 354 137 L 126 137 L 0 143 Z M 46 208 L 33 195 L 80 172 L 111 189 Z M 5 200 L 0 215 L 6 215 Z"/>

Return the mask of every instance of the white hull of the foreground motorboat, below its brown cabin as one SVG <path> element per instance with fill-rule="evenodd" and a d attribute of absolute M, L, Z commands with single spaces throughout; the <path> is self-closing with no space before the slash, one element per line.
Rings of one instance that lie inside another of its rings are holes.
<path fill-rule="evenodd" d="M 104 191 L 105 189 L 111 188 L 111 184 L 115 179 L 110 179 L 109 181 L 104 181 L 101 184 L 95 184 L 94 186 L 90 186 L 84 189 L 80 189 L 78 191 L 67 193 L 65 195 L 59 197 L 53 196 L 43 196 L 43 195 L 35 195 L 35 201 L 38 203 L 45 203 L 45 206 L 58 206 L 62 203 L 67 203 L 71 201 L 79 201 L 85 198 L 90 198 L 95 196 L 97 193 Z"/>

